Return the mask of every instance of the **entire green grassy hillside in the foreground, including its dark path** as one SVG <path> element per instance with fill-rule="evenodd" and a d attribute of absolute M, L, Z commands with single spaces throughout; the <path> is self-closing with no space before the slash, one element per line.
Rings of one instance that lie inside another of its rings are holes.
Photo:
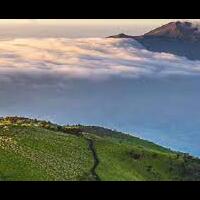
<path fill-rule="evenodd" d="M 109 129 L 7 117 L 0 180 L 200 180 L 200 160 Z"/>

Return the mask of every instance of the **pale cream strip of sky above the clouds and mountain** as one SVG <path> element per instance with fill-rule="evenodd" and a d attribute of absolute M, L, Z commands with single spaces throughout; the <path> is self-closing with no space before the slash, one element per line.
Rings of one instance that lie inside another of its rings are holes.
<path fill-rule="evenodd" d="M 177 20 L 184 19 L 0 19 L 0 37 L 107 37 L 122 32 L 141 35 Z"/>

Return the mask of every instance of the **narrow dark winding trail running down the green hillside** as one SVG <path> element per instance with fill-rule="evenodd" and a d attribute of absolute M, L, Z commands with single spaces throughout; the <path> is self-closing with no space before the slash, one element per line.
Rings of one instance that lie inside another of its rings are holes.
<path fill-rule="evenodd" d="M 94 177 L 95 180 L 100 181 L 101 179 L 99 178 L 98 174 L 96 173 L 96 168 L 99 164 L 99 159 L 97 157 L 94 141 L 92 139 L 89 139 L 89 138 L 86 138 L 86 140 L 88 141 L 88 145 L 89 145 L 89 148 L 92 152 L 93 159 L 94 159 L 94 165 L 91 168 L 91 174 L 92 174 L 92 176 Z"/>

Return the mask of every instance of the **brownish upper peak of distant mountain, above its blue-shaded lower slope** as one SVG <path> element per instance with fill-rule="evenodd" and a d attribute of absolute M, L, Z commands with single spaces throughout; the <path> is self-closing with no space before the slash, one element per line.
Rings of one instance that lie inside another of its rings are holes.
<path fill-rule="evenodd" d="M 200 32 L 191 22 L 170 22 L 146 34 L 146 37 L 165 37 L 195 41 L 200 39 Z"/>

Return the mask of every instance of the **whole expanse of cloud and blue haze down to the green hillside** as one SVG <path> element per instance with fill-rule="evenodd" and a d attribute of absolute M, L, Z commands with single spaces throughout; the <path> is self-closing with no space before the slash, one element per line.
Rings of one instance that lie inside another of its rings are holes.
<path fill-rule="evenodd" d="M 0 41 L 0 115 L 100 125 L 200 156 L 200 61 L 132 39 Z"/>

